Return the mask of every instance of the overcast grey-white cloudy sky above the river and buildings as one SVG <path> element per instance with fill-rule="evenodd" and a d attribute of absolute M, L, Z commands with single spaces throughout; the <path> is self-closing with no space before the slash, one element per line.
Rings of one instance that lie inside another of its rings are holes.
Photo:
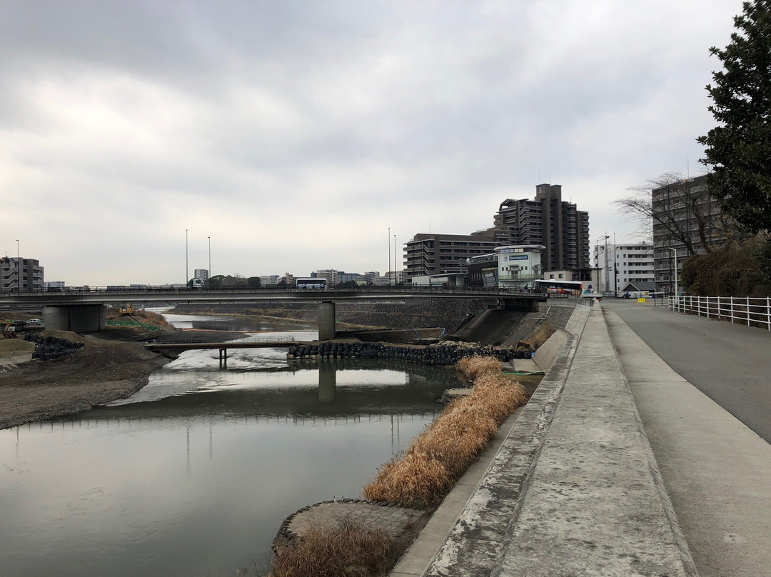
<path fill-rule="evenodd" d="M 68 285 L 388 270 L 539 182 L 702 174 L 739 0 L 0 0 L 0 255 Z M 689 162 L 690 160 L 690 162 Z M 690 165 L 690 166 L 689 166 Z M 391 242 L 393 238 L 391 238 Z M 391 251 L 393 248 L 391 248 Z"/>

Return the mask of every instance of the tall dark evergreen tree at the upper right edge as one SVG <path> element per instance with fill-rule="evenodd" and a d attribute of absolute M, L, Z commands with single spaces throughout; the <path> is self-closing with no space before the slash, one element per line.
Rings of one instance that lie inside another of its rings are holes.
<path fill-rule="evenodd" d="M 709 111 L 718 126 L 699 137 L 711 167 L 709 191 L 752 234 L 771 229 L 771 0 L 744 2 L 712 73 Z"/>

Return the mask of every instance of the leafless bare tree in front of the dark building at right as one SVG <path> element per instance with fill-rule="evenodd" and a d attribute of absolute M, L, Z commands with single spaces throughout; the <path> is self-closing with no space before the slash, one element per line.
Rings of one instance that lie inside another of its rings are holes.
<path fill-rule="evenodd" d="M 695 181 L 667 172 L 628 190 L 631 194 L 614 204 L 655 242 L 682 243 L 689 255 L 695 255 L 712 252 L 715 246 L 735 236 L 736 228 L 722 215 L 701 178 Z"/>

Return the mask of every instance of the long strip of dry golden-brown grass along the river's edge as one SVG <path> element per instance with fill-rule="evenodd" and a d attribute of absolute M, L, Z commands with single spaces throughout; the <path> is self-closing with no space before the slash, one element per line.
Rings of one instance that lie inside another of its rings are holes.
<path fill-rule="evenodd" d="M 500 374 L 496 359 L 464 360 L 458 363 L 464 373 L 480 375 L 473 392 L 450 403 L 403 457 L 383 465 L 364 488 L 366 498 L 415 508 L 438 503 L 495 437 L 500 423 L 525 403 L 524 388 Z"/>

